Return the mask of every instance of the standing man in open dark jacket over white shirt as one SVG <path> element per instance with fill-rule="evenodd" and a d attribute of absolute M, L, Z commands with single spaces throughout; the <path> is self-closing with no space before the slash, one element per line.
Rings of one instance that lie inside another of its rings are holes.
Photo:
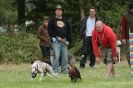
<path fill-rule="evenodd" d="M 80 33 L 83 38 L 83 50 L 82 50 L 82 58 L 80 61 L 80 67 L 84 68 L 87 60 L 87 54 L 90 55 L 90 67 L 94 67 L 95 65 L 95 56 L 92 48 L 92 31 L 95 27 L 95 23 L 98 20 L 96 17 L 96 9 L 95 7 L 89 8 L 89 16 L 85 17 L 82 20 Z"/>

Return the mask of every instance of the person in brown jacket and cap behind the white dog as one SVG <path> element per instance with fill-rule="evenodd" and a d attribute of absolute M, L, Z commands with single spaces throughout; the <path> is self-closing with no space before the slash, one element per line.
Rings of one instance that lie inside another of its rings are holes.
<path fill-rule="evenodd" d="M 43 18 L 43 24 L 37 30 L 37 38 L 40 40 L 39 46 L 42 51 L 43 59 L 42 61 L 51 65 L 49 60 L 49 52 L 51 47 L 51 39 L 48 34 L 48 17 Z"/>

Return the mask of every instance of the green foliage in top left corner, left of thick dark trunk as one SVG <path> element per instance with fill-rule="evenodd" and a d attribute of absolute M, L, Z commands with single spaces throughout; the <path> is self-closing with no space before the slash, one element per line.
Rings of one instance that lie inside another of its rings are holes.
<path fill-rule="evenodd" d="M 0 0 L 0 25 L 12 24 L 17 21 L 15 0 Z"/>

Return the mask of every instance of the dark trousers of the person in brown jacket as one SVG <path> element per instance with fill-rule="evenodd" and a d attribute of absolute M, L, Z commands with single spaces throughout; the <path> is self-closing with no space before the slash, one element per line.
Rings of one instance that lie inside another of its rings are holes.
<path fill-rule="evenodd" d="M 44 62 L 46 62 L 46 63 L 51 65 L 50 57 L 49 57 L 49 55 L 50 55 L 50 47 L 46 47 L 46 46 L 40 45 L 40 48 L 41 48 L 42 55 L 43 55 L 42 61 L 44 61 Z"/>

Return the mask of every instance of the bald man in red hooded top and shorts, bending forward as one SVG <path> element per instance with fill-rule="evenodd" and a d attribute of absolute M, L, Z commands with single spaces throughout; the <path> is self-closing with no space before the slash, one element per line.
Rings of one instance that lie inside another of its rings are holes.
<path fill-rule="evenodd" d="M 113 30 L 105 25 L 102 21 L 96 22 L 96 27 L 92 33 L 93 51 L 96 57 L 96 62 L 99 63 L 100 52 L 99 47 L 102 48 L 104 63 L 107 65 L 106 77 L 114 76 L 114 65 L 117 62 L 117 36 Z"/>

